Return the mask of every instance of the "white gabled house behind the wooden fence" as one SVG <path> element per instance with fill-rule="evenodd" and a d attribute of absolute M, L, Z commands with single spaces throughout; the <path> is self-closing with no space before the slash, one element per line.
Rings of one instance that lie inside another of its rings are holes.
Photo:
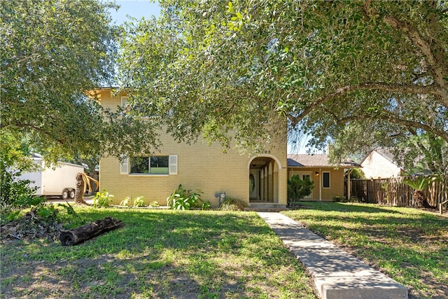
<path fill-rule="evenodd" d="M 404 169 L 399 167 L 391 151 L 386 148 L 377 148 L 360 162 L 367 179 L 384 179 L 400 176 Z"/>

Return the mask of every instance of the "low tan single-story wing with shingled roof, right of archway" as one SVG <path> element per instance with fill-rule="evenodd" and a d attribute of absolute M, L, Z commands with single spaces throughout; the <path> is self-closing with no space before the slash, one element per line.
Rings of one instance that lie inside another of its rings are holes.
<path fill-rule="evenodd" d="M 351 160 L 337 165 L 330 163 L 328 155 L 324 154 L 288 155 L 288 178 L 299 175 L 300 179 L 308 178 L 314 181 L 312 193 L 303 200 L 332 201 L 335 196 L 344 196 L 344 171 L 355 167 L 360 165 Z M 347 186 L 349 184 L 348 180 Z"/>

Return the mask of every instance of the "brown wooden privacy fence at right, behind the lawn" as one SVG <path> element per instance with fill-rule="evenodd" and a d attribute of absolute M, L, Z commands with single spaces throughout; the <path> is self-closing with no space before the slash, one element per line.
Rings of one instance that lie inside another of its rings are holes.
<path fill-rule="evenodd" d="M 412 198 L 414 189 L 403 183 L 405 177 L 390 179 L 356 179 L 351 181 L 351 195 L 363 202 L 373 204 L 387 204 L 397 207 L 416 207 Z M 445 182 L 445 183 L 444 183 Z M 426 190 L 426 197 L 430 205 L 438 207 L 448 200 L 448 177 L 436 181 Z"/>

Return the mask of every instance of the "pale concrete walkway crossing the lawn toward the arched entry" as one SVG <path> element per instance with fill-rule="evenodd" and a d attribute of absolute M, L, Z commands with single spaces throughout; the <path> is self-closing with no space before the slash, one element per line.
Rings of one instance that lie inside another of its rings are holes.
<path fill-rule="evenodd" d="M 307 268 L 324 299 L 407 298 L 407 288 L 280 213 L 258 212 Z"/>

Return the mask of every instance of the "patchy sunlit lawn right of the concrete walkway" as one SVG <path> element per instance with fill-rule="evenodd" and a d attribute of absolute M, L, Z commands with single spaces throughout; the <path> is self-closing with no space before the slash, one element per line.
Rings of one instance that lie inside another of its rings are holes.
<path fill-rule="evenodd" d="M 304 204 L 284 214 L 407 286 L 409 298 L 448 298 L 448 218 L 374 204 Z"/>

